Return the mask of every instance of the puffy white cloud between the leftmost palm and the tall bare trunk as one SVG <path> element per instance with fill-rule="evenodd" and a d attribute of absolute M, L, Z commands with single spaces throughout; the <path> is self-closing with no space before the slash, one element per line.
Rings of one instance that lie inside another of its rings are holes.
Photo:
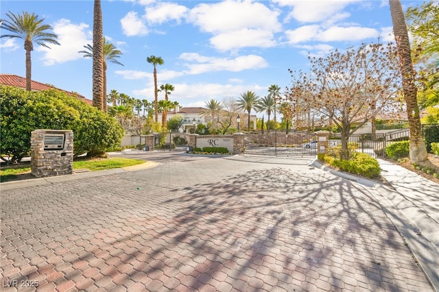
<path fill-rule="evenodd" d="M 78 51 L 84 50 L 84 45 L 92 44 L 93 40 L 87 37 L 88 25 L 85 23 L 75 24 L 68 19 L 60 19 L 53 25 L 54 33 L 58 35 L 60 45 L 51 45 L 51 49 L 36 47 L 36 51 L 43 51 L 43 63 L 47 66 L 61 64 L 71 60 L 83 58 Z"/>

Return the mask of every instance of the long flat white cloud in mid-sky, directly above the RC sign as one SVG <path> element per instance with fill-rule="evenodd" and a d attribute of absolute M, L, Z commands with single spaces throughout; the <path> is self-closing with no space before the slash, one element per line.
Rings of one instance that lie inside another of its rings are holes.
<path fill-rule="evenodd" d="M 185 73 L 191 75 L 213 71 L 238 72 L 268 66 L 268 63 L 261 56 L 256 55 L 239 56 L 237 58 L 214 58 L 200 56 L 198 53 L 182 53 L 180 59 L 189 61 L 185 64 L 189 69 Z"/>

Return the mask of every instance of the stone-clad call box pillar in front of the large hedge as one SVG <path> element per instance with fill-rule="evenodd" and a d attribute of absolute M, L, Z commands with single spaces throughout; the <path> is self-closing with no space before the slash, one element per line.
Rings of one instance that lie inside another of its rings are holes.
<path fill-rule="evenodd" d="M 34 130 L 30 143 L 32 175 L 73 173 L 73 131 Z"/>

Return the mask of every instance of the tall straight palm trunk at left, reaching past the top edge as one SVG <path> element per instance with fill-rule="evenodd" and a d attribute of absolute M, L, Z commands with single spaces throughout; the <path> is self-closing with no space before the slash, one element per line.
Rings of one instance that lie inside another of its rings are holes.
<path fill-rule="evenodd" d="M 95 0 L 93 10 L 93 106 L 104 110 L 104 32 L 101 0 Z"/>

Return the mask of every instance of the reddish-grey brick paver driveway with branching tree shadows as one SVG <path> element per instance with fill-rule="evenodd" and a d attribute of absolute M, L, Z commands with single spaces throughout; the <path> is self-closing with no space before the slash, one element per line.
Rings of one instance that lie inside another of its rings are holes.
<path fill-rule="evenodd" d="M 160 165 L 2 191 L 2 285 L 432 290 L 366 187 L 303 163 L 178 154 L 150 160 Z"/>

